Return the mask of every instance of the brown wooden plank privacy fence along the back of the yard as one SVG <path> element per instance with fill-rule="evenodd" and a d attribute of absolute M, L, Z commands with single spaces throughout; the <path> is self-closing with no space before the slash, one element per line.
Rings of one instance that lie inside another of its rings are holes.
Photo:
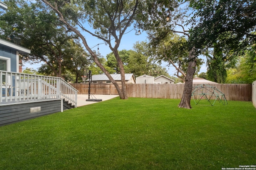
<path fill-rule="evenodd" d="M 89 84 L 71 84 L 79 92 L 88 94 Z M 199 86 L 200 84 L 193 84 Z M 225 94 L 227 100 L 251 101 L 252 84 L 207 84 Z M 121 88 L 121 84 L 119 85 Z M 181 99 L 184 84 L 126 84 L 128 97 Z M 91 94 L 118 95 L 113 84 L 91 84 Z"/>

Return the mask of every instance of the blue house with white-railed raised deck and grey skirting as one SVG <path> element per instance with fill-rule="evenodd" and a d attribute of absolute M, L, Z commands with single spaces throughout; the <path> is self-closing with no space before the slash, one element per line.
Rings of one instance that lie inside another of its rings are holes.
<path fill-rule="evenodd" d="M 20 73 L 22 54 L 30 49 L 0 39 L 0 126 L 76 107 L 77 90 L 62 78 Z"/>

